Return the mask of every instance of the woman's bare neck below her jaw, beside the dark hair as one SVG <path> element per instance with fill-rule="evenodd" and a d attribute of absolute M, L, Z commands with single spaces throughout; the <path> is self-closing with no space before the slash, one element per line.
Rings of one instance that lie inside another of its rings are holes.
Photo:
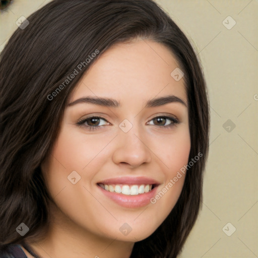
<path fill-rule="evenodd" d="M 41 258 L 130 258 L 134 246 L 134 242 L 105 238 L 82 229 L 58 209 L 51 215 L 43 239 L 26 243 Z"/>

